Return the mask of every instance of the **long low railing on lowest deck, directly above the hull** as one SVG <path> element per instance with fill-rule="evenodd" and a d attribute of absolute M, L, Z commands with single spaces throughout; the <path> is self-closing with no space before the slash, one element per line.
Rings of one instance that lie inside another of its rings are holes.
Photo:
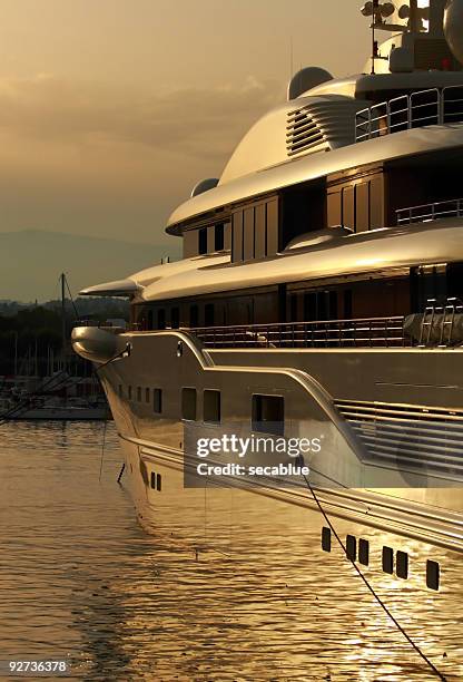
<path fill-rule="evenodd" d="M 206 348 L 397 348 L 412 345 L 404 318 L 189 329 Z"/>

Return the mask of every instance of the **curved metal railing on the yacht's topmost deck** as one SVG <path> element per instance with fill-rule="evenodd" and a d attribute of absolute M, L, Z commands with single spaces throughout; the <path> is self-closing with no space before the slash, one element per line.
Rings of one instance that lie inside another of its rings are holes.
<path fill-rule="evenodd" d="M 355 142 L 383 135 L 463 121 L 463 85 L 401 95 L 362 109 L 355 117 Z"/>

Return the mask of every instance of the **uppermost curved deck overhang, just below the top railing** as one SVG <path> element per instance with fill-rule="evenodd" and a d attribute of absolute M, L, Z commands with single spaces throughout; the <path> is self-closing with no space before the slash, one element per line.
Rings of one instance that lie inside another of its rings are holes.
<path fill-rule="evenodd" d="M 325 177 L 356 166 L 463 148 L 463 124 L 403 130 L 375 139 L 288 159 L 269 168 L 218 185 L 185 202 L 171 214 L 166 232 L 180 235 L 187 221 L 216 208 Z"/>

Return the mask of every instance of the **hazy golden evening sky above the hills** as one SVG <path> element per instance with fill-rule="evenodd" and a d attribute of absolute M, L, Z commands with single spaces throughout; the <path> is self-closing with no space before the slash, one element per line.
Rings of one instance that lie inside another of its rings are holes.
<path fill-rule="evenodd" d="M 362 70 L 361 6 L 0 0 L 0 231 L 159 242 L 284 98 L 290 39 L 295 70 Z"/>

